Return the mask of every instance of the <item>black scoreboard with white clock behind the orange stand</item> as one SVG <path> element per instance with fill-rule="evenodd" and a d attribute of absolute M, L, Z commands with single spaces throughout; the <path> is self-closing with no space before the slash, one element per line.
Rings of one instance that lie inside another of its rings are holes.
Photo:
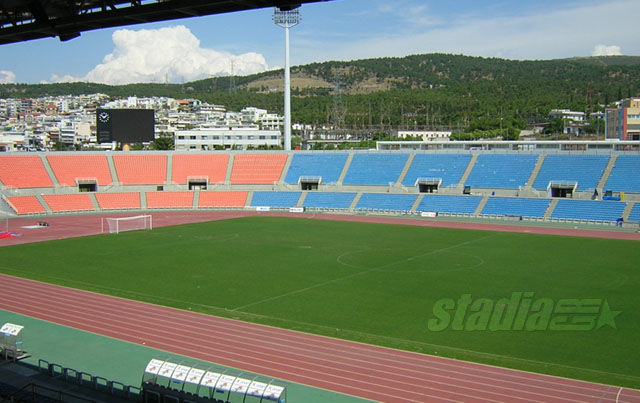
<path fill-rule="evenodd" d="M 142 143 L 154 140 L 153 109 L 98 109 L 98 143 Z"/>

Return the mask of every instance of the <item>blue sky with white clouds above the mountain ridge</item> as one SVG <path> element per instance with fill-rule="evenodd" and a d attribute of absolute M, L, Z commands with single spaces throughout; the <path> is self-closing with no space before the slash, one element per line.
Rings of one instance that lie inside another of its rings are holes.
<path fill-rule="evenodd" d="M 272 9 L 0 46 L 0 82 L 182 82 L 281 67 Z M 334 0 L 305 4 L 292 64 L 419 53 L 507 59 L 640 55 L 638 0 Z"/>

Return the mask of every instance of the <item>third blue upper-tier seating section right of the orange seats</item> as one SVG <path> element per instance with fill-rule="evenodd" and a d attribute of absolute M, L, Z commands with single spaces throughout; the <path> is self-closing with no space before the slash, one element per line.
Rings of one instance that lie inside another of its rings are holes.
<path fill-rule="evenodd" d="M 442 186 L 455 186 L 469 160 L 470 154 L 417 154 L 402 184 L 414 186 L 418 178 L 441 178 Z"/>

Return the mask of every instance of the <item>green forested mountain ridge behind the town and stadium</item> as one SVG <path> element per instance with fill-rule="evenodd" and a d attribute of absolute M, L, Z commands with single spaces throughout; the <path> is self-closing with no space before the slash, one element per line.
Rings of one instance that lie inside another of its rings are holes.
<path fill-rule="evenodd" d="M 4 84 L 0 97 L 156 95 L 282 113 L 282 76 L 279 70 L 184 84 Z M 532 123 L 545 120 L 553 108 L 602 110 L 640 95 L 640 57 L 515 61 L 426 54 L 312 63 L 292 68 L 292 94 L 294 121 L 305 123 L 337 120 L 382 128 L 460 127 L 480 118 Z"/>

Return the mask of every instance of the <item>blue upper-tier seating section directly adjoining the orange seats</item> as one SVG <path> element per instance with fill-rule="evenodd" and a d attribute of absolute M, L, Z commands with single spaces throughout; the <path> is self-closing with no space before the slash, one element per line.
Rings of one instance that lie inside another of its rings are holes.
<path fill-rule="evenodd" d="M 285 183 L 295 184 L 301 176 L 320 176 L 322 183 L 336 183 L 348 154 L 294 154 Z"/>

